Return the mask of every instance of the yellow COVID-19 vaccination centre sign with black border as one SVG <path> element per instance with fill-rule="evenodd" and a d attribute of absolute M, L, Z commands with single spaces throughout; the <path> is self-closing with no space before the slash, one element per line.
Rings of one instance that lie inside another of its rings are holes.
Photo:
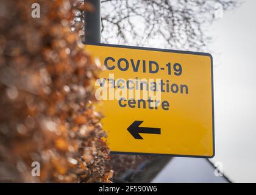
<path fill-rule="evenodd" d="M 95 96 L 112 152 L 211 158 L 212 55 L 88 44 L 104 68 Z"/>

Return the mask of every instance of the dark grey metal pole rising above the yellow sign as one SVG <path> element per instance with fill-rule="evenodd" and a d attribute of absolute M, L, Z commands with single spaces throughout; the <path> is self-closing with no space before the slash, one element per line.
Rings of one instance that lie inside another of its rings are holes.
<path fill-rule="evenodd" d="M 84 0 L 94 7 L 85 12 L 85 44 L 101 43 L 101 0 Z"/>

